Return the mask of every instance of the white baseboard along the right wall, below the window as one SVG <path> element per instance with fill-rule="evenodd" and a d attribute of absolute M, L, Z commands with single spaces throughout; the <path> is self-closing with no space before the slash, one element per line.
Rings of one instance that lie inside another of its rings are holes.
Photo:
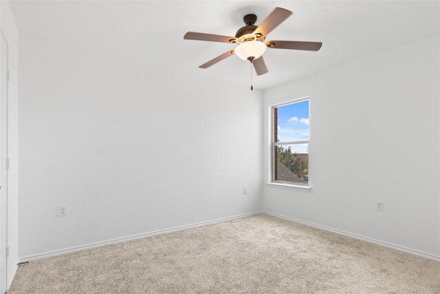
<path fill-rule="evenodd" d="M 331 231 L 333 233 L 338 233 L 340 235 L 345 235 L 347 237 L 351 237 L 351 238 L 355 238 L 355 239 L 358 239 L 358 240 L 374 243 L 374 244 L 377 244 L 377 245 L 382 245 L 382 246 L 385 246 L 385 247 L 388 247 L 388 248 L 391 248 L 391 249 L 395 249 L 395 250 L 399 250 L 399 251 L 404 251 L 406 253 L 410 253 L 410 254 L 414 254 L 414 255 L 417 255 L 417 256 L 421 256 L 422 258 L 428 258 L 430 260 L 435 260 L 437 262 L 440 262 L 440 256 L 439 255 L 434 255 L 434 254 L 431 254 L 431 253 L 417 251 L 415 249 L 410 249 L 410 248 L 406 248 L 404 246 L 399 246 L 399 245 L 396 245 L 396 244 L 391 244 L 391 243 L 388 243 L 388 242 L 384 242 L 384 241 L 380 241 L 380 240 L 375 240 L 373 238 L 364 237 L 362 235 L 356 235 L 354 233 L 349 233 L 349 232 L 346 232 L 346 231 L 340 231 L 338 229 L 333 229 L 333 228 L 330 228 L 330 227 L 325 227 L 325 226 L 322 226 L 320 224 L 314 224 L 312 222 L 306 222 L 305 220 L 298 220 L 297 218 L 290 218 L 289 216 L 282 216 L 281 214 L 272 213 L 270 211 L 262 211 L 262 212 L 267 214 L 267 215 L 269 215 L 269 216 L 274 216 L 276 218 L 283 218 L 285 220 L 290 220 L 292 222 L 298 222 L 300 224 L 305 224 L 305 225 L 307 225 L 309 227 L 315 227 L 315 228 L 322 229 L 322 230 L 325 230 L 325 231 Z"/>

